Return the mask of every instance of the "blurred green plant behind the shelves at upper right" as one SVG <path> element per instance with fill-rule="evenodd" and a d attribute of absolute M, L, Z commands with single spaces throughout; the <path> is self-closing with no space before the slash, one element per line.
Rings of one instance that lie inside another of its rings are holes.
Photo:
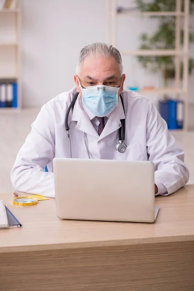
<path fill-rule="evenodd" d="M 151 11 L 176 11 L 176 0 L 152 0 L 150 2 L 136 0 L 137 7 L 142 12 Z M 184 1 L 181 10 L 184 11 Z M 193 12 L 194 0 L 190 0 L 190 13 Z M 156 16 L 151 16 L 156 17 Z M 158 17 L 158 16 L 157 16 Z M 175 49 L 176 17 L 160 16 L 158 30 L 152 35 L 141 34 L 142 44 L 140 49 Z M 180 31 L 180 43 L 183 44 L 183 30 Z M 189 32 L 189 41 L 194 42 L 194 33 Z M 174 56 L 138 56 L 138 61 L 144 68 L 152 72 L 162 69 L 164 87 L 167 87 L 169 80 L 175 78 L 175 57 Z M 189 74 L 194 69 L 194 59 L 189 58 Z M 180 65 L 180 77 L 182 78 L 183 65 Z"/>

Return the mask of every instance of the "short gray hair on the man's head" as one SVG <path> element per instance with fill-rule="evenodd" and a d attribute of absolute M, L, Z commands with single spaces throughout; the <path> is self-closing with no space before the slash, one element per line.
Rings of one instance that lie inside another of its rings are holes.
<path fill-rule="evenodd" d="M 91 45 L 85 46 L 81 49 L 80 56 L 78 59 L 78 64 L 76 66 L 76 74 L 79 75 L 81 71 L 81 66 L 87 56 L 91 56 L 92 58 L 96 56 L 102 56 L 105 58 L 114 57 L 116 62 L 119 65 L 120 73 L 123 73 L 123 65 L 120 52 L 118 49 L 114 48 L 113 46 L 104 44 L 104 43 L 93 43 Z"/>

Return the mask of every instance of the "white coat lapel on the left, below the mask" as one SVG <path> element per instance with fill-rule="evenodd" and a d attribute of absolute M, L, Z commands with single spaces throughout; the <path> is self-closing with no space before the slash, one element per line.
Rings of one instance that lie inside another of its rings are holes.
<path fill-rule="evenodd" d="M 90 134 L 98 139 L 99 135 L 98 135 L 96 129 L 93 127 L 88 115 L 82 109 L 80 95 L 78 96 L 78 99 L 75 103 L 71 120 L 78 122 L 76 129 L 79 129 L 79 130 L 81 130 L 87 134 Z"/>

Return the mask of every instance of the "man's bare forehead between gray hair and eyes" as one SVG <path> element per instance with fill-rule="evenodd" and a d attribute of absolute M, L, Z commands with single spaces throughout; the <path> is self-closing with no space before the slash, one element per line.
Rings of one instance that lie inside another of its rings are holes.
<path fill-rule="evenodd" d="M 105 58 L 101 56 L 87 56 L 81 66 L 81 75 L 90 75 L 93 77 L 108 75 L 120 76 L 119 65 L 114 57 Z"/>

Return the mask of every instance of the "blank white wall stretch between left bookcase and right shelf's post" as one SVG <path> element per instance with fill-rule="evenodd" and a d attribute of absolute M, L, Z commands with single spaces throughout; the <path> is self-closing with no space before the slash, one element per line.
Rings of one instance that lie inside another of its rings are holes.
<path fill-rule="evenodd" d="M 23 0 L 22 96 L 36 107 L 74 86 L 85 45 L 105 42 L 105 0 Z"/>

